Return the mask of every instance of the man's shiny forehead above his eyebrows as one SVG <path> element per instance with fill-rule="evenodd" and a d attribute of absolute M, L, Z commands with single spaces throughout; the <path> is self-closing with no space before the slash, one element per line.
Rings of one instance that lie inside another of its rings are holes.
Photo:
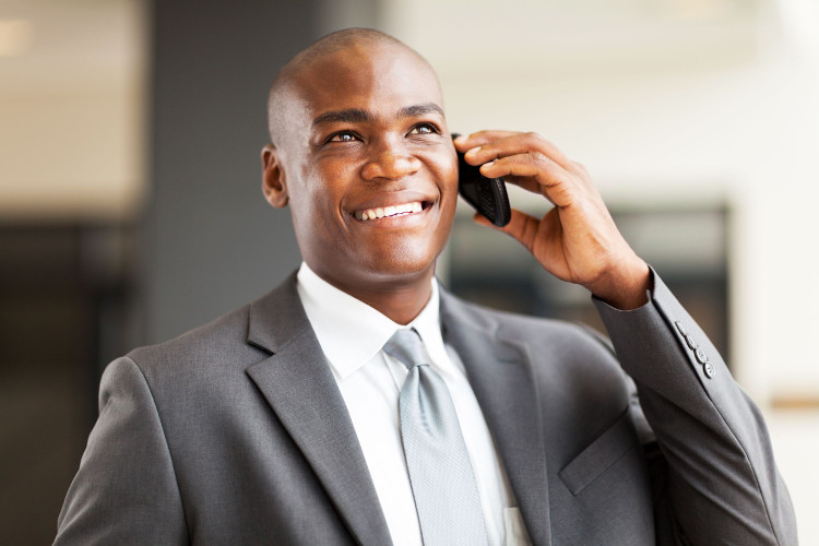
<path fill-rule="evenodd" d="M 360 44 L 323 55 L 293 83 L 299 109 L 312 118 L 347 108 L 388 115 L 418 104 L 443 106 L 432 69 L 400 45 Z"/>

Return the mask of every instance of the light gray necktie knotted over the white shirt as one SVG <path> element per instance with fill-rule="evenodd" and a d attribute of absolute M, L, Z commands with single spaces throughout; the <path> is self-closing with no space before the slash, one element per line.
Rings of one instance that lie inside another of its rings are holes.
<path fill-rule="evenodd" d="M 401 389 L 401 440 L 426 546 L 487 544 L 484 511 L 470 454 L 443 379 L 415 329 L 384 345 L 410 373 Z"/>

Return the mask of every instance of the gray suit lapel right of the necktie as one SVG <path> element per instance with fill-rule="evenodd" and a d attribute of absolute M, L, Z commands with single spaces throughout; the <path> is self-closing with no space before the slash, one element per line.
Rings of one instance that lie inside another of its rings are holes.
<path fill-rule="evenodd" d="M 534 544 L 550 544 L 541 404 L 525 345 L 441 290 L 444 340 L 464 363 Z"/>

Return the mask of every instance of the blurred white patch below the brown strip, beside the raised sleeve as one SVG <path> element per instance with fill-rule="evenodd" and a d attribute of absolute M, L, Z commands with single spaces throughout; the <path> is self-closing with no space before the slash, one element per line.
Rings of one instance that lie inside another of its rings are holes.
<path fill-rule="evenodd" d="M 819 545 L 819 410 L 770 411 L 765 419 L 796 511 L 799 544 Z"/>

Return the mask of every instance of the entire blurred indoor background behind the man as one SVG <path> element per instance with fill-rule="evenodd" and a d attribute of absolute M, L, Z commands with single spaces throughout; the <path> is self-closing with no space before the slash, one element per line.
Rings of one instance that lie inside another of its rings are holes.
<path fill-rule="evenodd" d="M 535 130 L 591 170 L 763 408 L 819 544 L 816 0 L 0 0 L 0 544 L 54 537 L 111 358 L 298 265 L 260 191 L 266 92 L 345 26 L 426 56 L 452 130 Z M 454 292 L 596 323 L 462 209 Z"/>

